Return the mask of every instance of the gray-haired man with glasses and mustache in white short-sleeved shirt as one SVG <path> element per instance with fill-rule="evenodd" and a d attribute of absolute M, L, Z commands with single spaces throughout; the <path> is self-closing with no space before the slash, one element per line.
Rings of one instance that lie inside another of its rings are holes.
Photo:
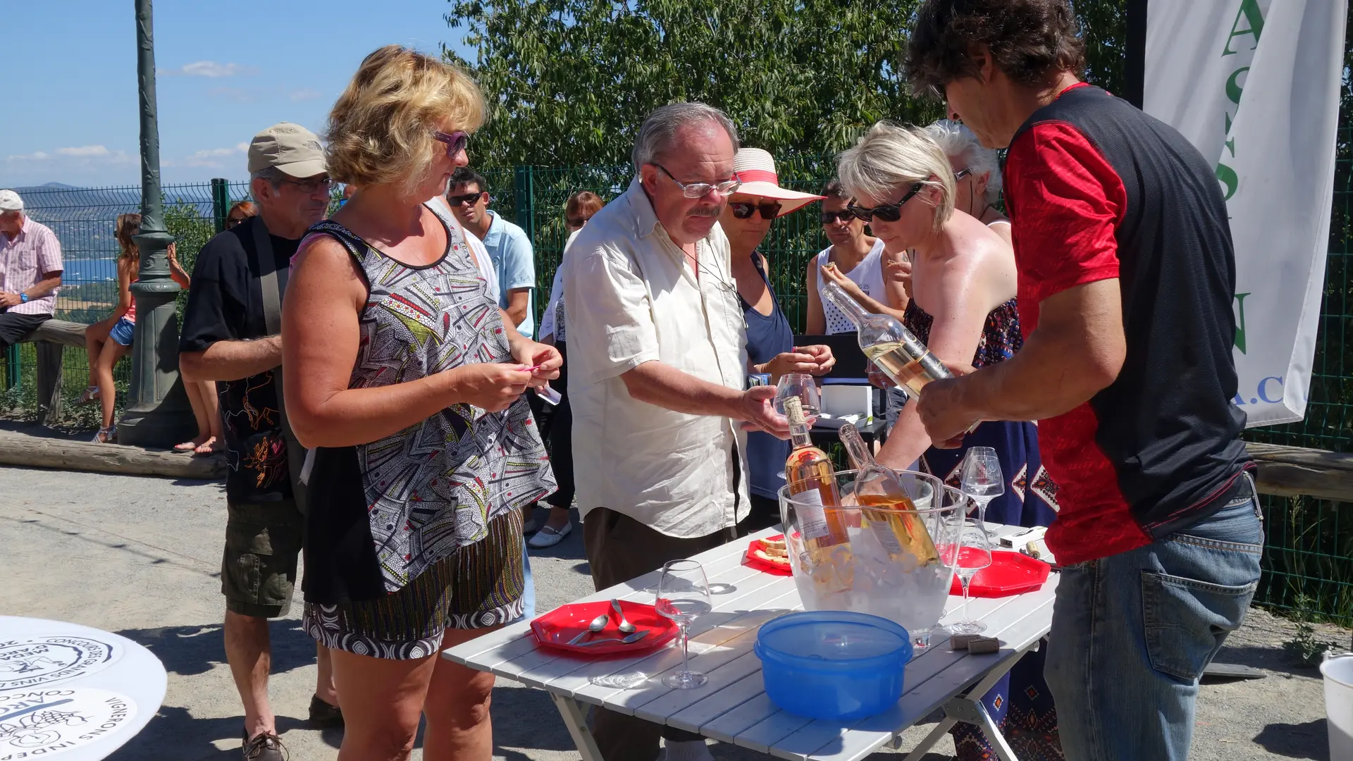
<path fill-rule="evenodd" d="M 747 389 L 747 329 L 717 218 L 737 190 L 737 135 L 701 103 L 658 108 L 639 177 L 564 260 L 574 477 L 593 582 L 603 589 L 737 536 L 744 427 L 787 436 L 775 389 Z M 700 735 L 599 710 L 607 761 L 708 758 Z"/>

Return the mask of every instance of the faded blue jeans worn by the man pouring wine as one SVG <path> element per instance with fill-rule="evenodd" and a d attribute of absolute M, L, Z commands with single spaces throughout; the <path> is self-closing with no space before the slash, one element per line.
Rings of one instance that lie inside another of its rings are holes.
<path fill-rule="evenodd" d="M 1253 494 L 1145 547 L 1062 570 L 1045 676 L 1069 761 L 1184 761 L 1203 668 L 1260 578 Z"/>

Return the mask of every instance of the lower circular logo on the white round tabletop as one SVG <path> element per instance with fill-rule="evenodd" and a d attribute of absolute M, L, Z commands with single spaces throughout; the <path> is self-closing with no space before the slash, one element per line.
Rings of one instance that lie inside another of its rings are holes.
<path fill-rule="evenodd" d="M 46 758 L 104 742 L 137 715 L 131 699 L 104 689 L 0 693 L 0 761 Z"/>

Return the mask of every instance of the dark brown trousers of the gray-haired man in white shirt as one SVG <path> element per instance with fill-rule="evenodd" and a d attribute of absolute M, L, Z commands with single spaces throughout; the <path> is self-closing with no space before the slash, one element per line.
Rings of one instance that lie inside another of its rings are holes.
<path fill-rule="evenodd" d="M 678 539 L 607 508 L 594 508 L 583 520 L 583 546 L 598 592 L 658 570 L 668 561 L 713 550 L 743 535 L 746 529 L 739 525 L 706 536 Z M 702 739 L 694 733 L 605 708 L 595 708 L 593 712 L 593 735 L 606 761 L 653 761 L 658 757 L 659 737 L 668 742 Z"/>

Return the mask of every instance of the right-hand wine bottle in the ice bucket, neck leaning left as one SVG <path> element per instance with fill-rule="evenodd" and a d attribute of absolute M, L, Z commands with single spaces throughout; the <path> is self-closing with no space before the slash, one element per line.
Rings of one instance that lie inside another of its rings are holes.
<path fill-rule="evenodd" d="M 874 460 L 869 445 L 854 425 L 848 422 L 842 425 L 840 437 L 858 471 L 855 500 L 862 508 L 866 528 L 874 534 L 889 557 L 912 557 L 919 566 L 938 563 L 939 551 L 935 550 L 935 542 L 930 531 L 925 531 L 925 521 L 916 512 L 916 505 L 908 497 L 897 471 Z"/>

